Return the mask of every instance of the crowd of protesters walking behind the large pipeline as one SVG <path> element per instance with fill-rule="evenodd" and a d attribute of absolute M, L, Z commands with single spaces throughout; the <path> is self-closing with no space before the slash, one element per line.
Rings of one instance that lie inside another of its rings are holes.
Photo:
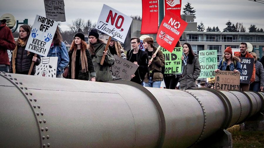
<path fill-rule="evenodd" d="M 11 30 L 6 26 L 6 20 L 0 20 L 0 71 L 9 73 L 18 73 L 28 75 L 31 63 L 34 62 L 31 75 L 35 74 L 35 68 L 40 64 L 40 56 L 35 56 L 25 50 L 31 27 L 21 25 L 19 28 L 19 37 L 16 41 L 12 36 Z M 59 28 L 53 37 L 48 56 L 58 57 L 57 61 L 57 78 L 68 78 L 87 81 L 108 82 L 113 80 L 111 66 L 114 64 L 114 55 L 131 61 L 138 66 L 136 72 L 131 75 L 131 81 L 145 87 L 160 88 L 164 80 L 167 89 L 191 90 L 198 87 L 197 79 L 200 75 L 201 68 L 197 54 L 194 54 L 192 46 L 189 43 L 178 41 L 175 47 L 182 47 L 181 56 L 182 71 L 177 74 L 164 74 L 165 59 L 161 50 L 154 46 L 154 39 L 147 37 L 143 39 L 145 51 L 139 49 L 140 39 L 131 38 L 131 50 L 126 54 L 121 44 L 111 38 L 108 50 L 105 51 L 105 41 L 99 38 L 96 29 L 89 32 L 89 43 L 84 42 L 84 34 L 75 34 L 70 51 L 67 52 L 65 44 L 62 42 L 62 36 Z M 13 51 L 11 61 L 7 50 Z M 158 50 L 158 51 L 157 51 Z M 157 52 L 155 52 L 157 51 Z M 264 51 L 264 48 L 263 48 Z M 242 68 L 239 57 L 254 58 L 253 74 L 249 84 L 241 83 L 242 91 L 260 91 L 264 87 L 264 57 L 257 61 L 255 53 L 247 51 L 247 44 L 240 44 L 240 52 L 232 55 L 231 47 L 224 51 L 223 59 L 219 61 L 219 66 L 215 70 L 233 71 L 242 74 Z M 104 56 L 103 64 L 101 65 Z M 63 77 L 62 77 L 63 75 Z M 179 83 L 179 86 L 177 84 Z M 177 87 L 176 87 L 177 86 Z M 214 89 L 214 84 L 206 85 L 205 81 L 201 82 L 201 87 Z"/>

